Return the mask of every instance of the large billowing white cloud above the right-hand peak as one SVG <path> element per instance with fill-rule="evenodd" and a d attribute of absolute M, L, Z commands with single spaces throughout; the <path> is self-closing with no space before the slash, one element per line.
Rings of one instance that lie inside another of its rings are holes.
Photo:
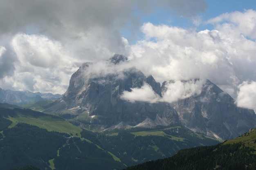
<path fill-rule="evenodd" d="M 145 38 L 130 46 L 129 60 L 158 82 L 210 79 L 236 98 L 241 82 L 256 81 L 255 18 L 253 10 L 227 13 L 207 22 L 215 29 L 203 31 L 148 22 L 141 26 Z M 242 30 L 244 20 L 250 23 Z"/>

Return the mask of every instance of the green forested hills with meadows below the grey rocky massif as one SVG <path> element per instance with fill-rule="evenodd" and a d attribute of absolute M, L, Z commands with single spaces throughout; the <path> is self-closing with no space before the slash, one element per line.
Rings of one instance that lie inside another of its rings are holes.
<path fill-rule="evenodd" d="M 0 170 L 114 170 L 219 142 L 181 126 L 92 132 L 58 116 L 0 104 Z"/>

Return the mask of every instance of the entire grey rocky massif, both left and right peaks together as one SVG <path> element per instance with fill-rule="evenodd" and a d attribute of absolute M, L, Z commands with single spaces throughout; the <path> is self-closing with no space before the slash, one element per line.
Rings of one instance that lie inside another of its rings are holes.
<path fill-rule="evenodd" d="M 107 62 L 122 66 L 128 61 L 124 55 L 114 55 Z M 98 76 L 94 76 L 91 70 L 92 63 L 84 63 L 72 75 L 69 88 L 52 110 L 67 110 L 65 117 L 75 117 L 80 125 L 100 124 L 105 129 L 183 125 L 195 132 L 221 139 L 238 137 L 256 126 L 253 110 L 236 107 L 234 99 L 209 80 L 199 95 L 171 104 L 128 102 L 120 98 L 121 94 L 131 91 L 131 88 L 141 88 L 144 84 L 148 84 L 161 98 L 166 91 L 166 82 L 161 87 L 153 76 L 146 77 L 136 68 Z M 68 116 L 70 113 L 76 115 Z M 90 119 L 83 119 L 81 114 Z"/>

